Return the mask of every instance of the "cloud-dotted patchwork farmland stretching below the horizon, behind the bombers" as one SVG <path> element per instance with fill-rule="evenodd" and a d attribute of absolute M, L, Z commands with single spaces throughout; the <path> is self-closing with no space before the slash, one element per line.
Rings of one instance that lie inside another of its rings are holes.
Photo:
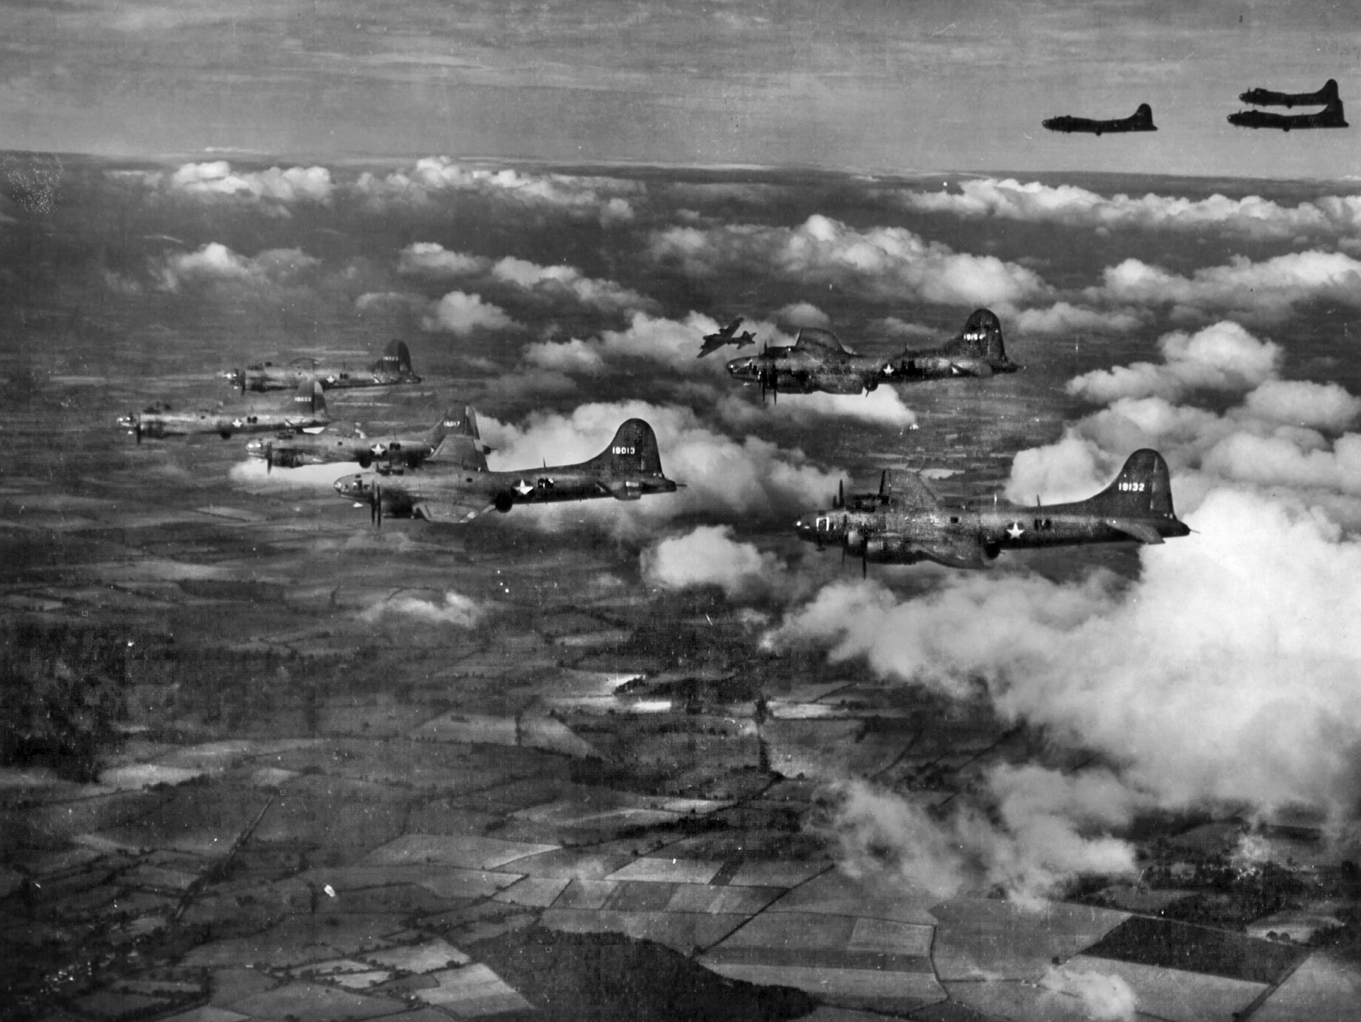
<path fill-rule="evenodd" d="M 1353 1017 L 1361 188 L 3 173 L 7 1017 Z M 762 401 L 697 358 L 984 306 L 1019 372 Z M 335 427 L 470 404 L 532 471 L 636 416 L 683 489 L 378 528 L 354 463 L 116 426 L 392 339 L 421 382 Z M 885 468 L 1025 505 L 1136 448 L 1192 535 L 962 572 L 793 531 Z"/>

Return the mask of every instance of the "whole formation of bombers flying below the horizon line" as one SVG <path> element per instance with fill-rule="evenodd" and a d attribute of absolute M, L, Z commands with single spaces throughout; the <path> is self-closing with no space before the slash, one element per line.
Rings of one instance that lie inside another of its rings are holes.
<path fill-rule="evenodd" d="M 751 331 L 738 335 L 742 317 L 704 336 L 700 357 L 720 347 L 755 343 Z M 961 377 L 987 378 L 1015 373 L 1021 366 L 1006 354 L 1002 321 L 989 309 L 976 309 L 964 329 L 935 347 L 905 347 L 898 355 L 859 355 L 840 337 L 822 328 L 803 328 L 793 344 L 764 344 L 757 355 L 739 357 L 727 372 L 759 388 L 761 400 L 785 393 L 870 393 L 881 384 L 916 384 Z M 425 431 L 369 437 L 362 429 L 350 433 L 331 429 L 327 388 L 388 386 L 419 382 L 407 346 L 392 342 L 382 358 L 357 373 L 323 367 L 298 358 L 284 367 L 264 362 L 223 373 L 240 388 L 268 391 L 295 386 L 291 407 L 250 411 L 174 412 L 148 408 L 118 421 L 140 444 L 143 437 L 162 438 L 192 433 L 274 431 L 252 440 L 246 455 L 265 463 L 265 471 L 309 464 L 357 463 L 361 472 L 335 480 L 338 495 L 357 508 L 367 506 L 376 528 L 384 517 L 423 518 L 463 524 L 495 509 L 517 505 L 557 504 L 612 497 L 637 501 L 646 495 L 675 493 L 683 483 L 666 476 L 652 426 L 629 419 L 610 445 L 595 457 L 561 465 L 493 471 L 487 448 L 478 431 L 471 406 L 450 407 Z M 1190 528 L 1177 520 L 1166 461 L 1155 450 L 1134 452 L 1119 476 L 1086 501 L 1034 508 L 1003 505 L 950 508 L 916 472 L 885 469 L 878 493 L 837 495 L 827 510 L 810 512 L 795 523 L 800 539 L 819 548 L 840 546 L 842 559 L 860 558 L 862 570 L 871 562 L 911 565 L 934 561 L 949 567 L 985 567 L 1004 550 L 1089 543 L 1162 543 L 1184 536 Z"/>

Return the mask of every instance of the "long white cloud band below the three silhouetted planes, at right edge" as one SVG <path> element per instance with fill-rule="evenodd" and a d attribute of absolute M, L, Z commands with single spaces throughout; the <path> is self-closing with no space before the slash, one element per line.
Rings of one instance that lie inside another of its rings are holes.
<path fill-rule="evenodd" d="M 1181 199 L 1154 195 L 1098 195 L 1075 185 L 1021 184 L 1015 178 L 961 181 L 958 192 L 905 192 L 912 210 L 951 212 L 1074 227 L 1202 231 L 1214 227 L 1249 238 L 1289 240 L 1298 234 L 1351 235 L 1361 229 L 1361 196 L 1323 196 L 1298 205 L 1279 205 L 1249 195 L 1228 199 Z"/>

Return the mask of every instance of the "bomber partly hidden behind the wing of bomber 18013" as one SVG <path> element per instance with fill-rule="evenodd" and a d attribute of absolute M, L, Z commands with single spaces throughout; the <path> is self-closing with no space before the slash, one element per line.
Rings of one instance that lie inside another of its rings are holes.
<path fill-rule="evenodd" d="M 418 435 L 369 437 L 362 430 L 327 430 L 318 434 L 280 433 L 246 444 L 246 453 L 264 459 L 267 471 L 275 465 L 298 468 L 332 461 L 358 461 L 361 468 L 369 468 L 374 461 L 387 461 L 389 468 L 416 468 L 427 460 L 480 471 L 487 467 L 485 450 L 471 407 L 463 411 L 450 408 Z"/>

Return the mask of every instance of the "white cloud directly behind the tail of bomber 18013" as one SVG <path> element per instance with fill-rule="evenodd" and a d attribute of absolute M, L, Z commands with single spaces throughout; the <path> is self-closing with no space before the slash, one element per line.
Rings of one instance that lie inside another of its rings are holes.
<path fill-rule="evenodd" d="M 604 521 L 617 529 L 645 527 L 682 514 L 715 513 L 744 518 L 788 517 L 802 509 L 808 494 L 836 491 L 841 474 L 813 465 L 798 449 L 781 448 L 759 437 L 735 440 L 716 433 L 693 408 L 646 401 L 583 404 L 570 414 L 535 412 L 524 426 L 480 416 L 483 438 L 494 452 L 491 468 L 573 464 L 599 455 L 626 419 L 646 421 L 657 434 L 667 476 L 685 483 L 674 494 L 646 497 L 621 516 L 614 501 L 585 501 L 543 508 L 517 508 L 546 528 L 566 520 Z"/>

